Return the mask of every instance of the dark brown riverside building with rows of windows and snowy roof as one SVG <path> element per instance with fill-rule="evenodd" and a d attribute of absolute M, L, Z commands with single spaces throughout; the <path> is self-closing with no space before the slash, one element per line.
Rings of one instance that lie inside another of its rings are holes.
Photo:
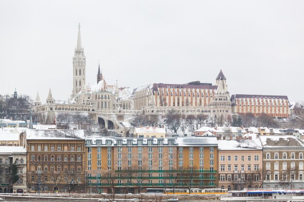
<path fill-rule="evenodd" d="M 29 192 L 85 192 L 83 130 L 28 129 L 26 135 Z"/>

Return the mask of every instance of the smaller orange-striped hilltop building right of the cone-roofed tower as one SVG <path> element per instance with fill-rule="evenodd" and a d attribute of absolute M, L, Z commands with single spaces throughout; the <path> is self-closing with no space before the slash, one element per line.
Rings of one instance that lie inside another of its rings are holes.
<path fill-rule="evenodd" d="M 233 94 L 231 102 L 232 113 L 239 115 L 253 114 L 253 116 L 261 116 L 265 114 L 276 118 L 287 118 L 289 116 L 287 96 Z"/>

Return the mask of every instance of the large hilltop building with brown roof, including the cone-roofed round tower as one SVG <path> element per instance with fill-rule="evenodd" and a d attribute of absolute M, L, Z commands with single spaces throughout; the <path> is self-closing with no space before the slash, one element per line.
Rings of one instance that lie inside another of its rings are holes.
<path fill-rule="evenodd" d="M 165 114 L 170 110 L 182 114 L 231 114 L 226 78 L 221 70 L 215 85 L 199 81 L 154 83 L 135 89 L 133 94 L 135 110 L 143 114 Z"/>

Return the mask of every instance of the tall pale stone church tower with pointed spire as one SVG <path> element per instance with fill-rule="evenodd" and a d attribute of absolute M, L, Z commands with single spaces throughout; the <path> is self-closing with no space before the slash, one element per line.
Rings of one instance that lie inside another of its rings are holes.
<path fill-rule="evenodd" d="M 81 90 L 81 87 L 85 85 L 85 56 L 84 48 L 81 44 L 81 33 L 80 33 L 80 23 L 78 26 L 78 39 L 77 47 L 75 48 L 73 57 L 73 90 L 72 98 L 74 98 L 77 93 Z"/>

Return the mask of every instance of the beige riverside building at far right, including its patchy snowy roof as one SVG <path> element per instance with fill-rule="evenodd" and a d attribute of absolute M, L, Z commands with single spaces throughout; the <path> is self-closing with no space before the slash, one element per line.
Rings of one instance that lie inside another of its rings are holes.
<path fill-rule="evenodd" d="M 260 136 L 264 188 L 303 188 L 304 144 L 294 136 Z"/>

